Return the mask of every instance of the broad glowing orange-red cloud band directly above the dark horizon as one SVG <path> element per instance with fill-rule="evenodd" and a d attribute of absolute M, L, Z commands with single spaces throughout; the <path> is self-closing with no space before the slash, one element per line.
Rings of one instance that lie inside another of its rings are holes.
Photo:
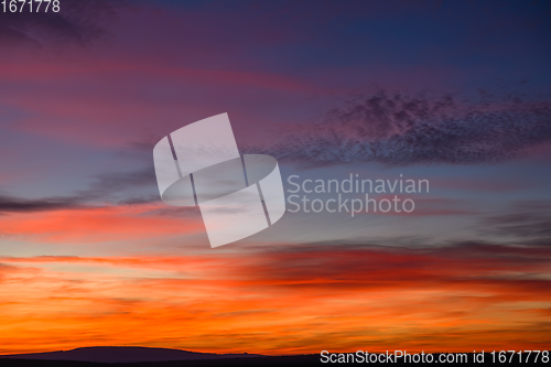
<path fill-rule="evenodd" d="M 551 342 L 544 248 L 281 246 L 0 262 L 3 353 L 489 350 Z"/>

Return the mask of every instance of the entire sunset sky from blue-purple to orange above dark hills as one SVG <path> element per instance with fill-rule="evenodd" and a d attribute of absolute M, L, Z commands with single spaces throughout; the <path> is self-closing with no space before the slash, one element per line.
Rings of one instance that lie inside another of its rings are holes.
<path fill-rule="evenodd" d="M 0 12 L 0 353 L 549 348 L 550 15 L 544 1 Z M 152 151 L 224 112 L 241 153 L 278 160 L 288 211 L 210 248 L 197 207 L 161 201 Z M 290 180 L 350 174 L 430 188 L 399 194 L 411 213 L 289 202 Z"/>

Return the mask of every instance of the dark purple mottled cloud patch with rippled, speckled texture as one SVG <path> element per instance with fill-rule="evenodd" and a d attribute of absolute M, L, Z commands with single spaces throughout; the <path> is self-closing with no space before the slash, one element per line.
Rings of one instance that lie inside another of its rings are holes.
<path fill-rule="evenodd" d="M 483 164 L 550 142 L 549 100 L 465 102 L 381 90 L 331 109 L 321 122 L 288 126 L 273 143 L 249 151 L 312 165 Z"/>

